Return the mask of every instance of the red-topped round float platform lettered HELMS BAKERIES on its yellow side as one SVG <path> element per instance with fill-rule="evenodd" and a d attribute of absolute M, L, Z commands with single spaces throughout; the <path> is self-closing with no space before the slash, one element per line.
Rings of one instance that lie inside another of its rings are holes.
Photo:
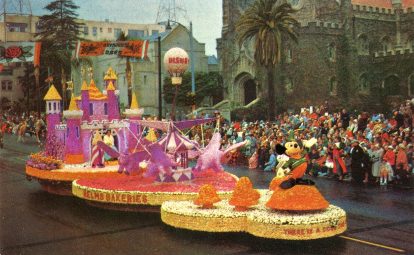
<path fill-rule="evenodd" d="M 193 180 L 177 183 L 160 183 L 154 181 L 154 178 L 136 175 L 75 180 L 72 192 L 88 201 L 106 204 L 161 206 L 165 201 L 194 201 L 205 184 L 212 185 L 221 199 L 230 198 L 236 182 L 237 177 L 227 172 L 199 175 Z"/>

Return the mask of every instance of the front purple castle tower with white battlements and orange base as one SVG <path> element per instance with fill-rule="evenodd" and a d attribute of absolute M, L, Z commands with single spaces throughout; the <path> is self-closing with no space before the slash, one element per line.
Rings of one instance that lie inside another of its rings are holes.
<path fill-rule="evenodd" d="M 80 120 L 83 111 L 79 110 L 75 96 L 72 94 L 69 110 L 63 111 L 66 118 L 66 164 L 81 164 L 84 162 L 82 150 L 82 136 L 80 130 Z"/>

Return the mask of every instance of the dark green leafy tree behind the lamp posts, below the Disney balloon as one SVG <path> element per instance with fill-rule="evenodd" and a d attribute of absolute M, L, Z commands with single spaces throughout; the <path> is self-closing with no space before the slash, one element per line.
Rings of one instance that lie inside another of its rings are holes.
<path fill-rule="evenodd" d="M 222 77 L 216 71 L 201 72 L 194 74 L 196 87 L 196 105 L 201 105 L 205 98 L 220 97 L 223 90 Z M 183 75 L 181 85 L 178 85 L 176 105 L 188 106 L 187 94 L 191 92 L 191 74 L 186 72 Z M 166 103 L 173 103 L 175 85 L 172 85 L 171 78 L 164 79 L 163 94 Z"/>

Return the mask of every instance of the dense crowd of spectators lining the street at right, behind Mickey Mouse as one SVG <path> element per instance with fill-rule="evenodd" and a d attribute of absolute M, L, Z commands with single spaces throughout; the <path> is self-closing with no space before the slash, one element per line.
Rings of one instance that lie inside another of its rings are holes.
<path fill-rule="evenodd" d="M 274 122 L 242 120 L 224 124 L 220 127 L 222 148 L 246 140 L 243 148 L 233 152 L 229 163 L 269 170 L 276 144 L 284 145 L 293 133 L 300 146 L 304 140 L 317 139 L 307 156 L 307 175 L 336 176 L 356 183 L 387 185 L 393 181 L 409 185 L 414 168 L 411 101 L 395 108 L 389 117 L 367 112 L 353 115 L 345 109 L 334 112 L 328 102 L 314 107 L 314 111 L 312 108 L 303 108 L 298 114 L 281 114 Z M 279 160 L 280 156 L 276 161 Z M 337 172 L 338 168 L 341 171 Z"/>

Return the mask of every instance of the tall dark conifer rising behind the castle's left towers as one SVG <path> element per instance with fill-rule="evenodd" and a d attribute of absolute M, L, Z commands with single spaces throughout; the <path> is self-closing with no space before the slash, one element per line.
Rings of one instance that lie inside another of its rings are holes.
<path fill-rule="evenodd" d="M 44 8 L 51 14 L 40 17 L 41 31 L 35 33 L 35 37 L 40 38 L 43 44 L 41 55 L 43 62 L 51 67 L 54 77 L 60 77 L 64 109 L 67 104 L 66 74 L 70 72 L 70 60 L 75 42 L 81 39 L 80 27 L 84 25 L 76 21 L 78 14 L 75 10 L 78 8 L 71 0 L 51 2 Z"/>

